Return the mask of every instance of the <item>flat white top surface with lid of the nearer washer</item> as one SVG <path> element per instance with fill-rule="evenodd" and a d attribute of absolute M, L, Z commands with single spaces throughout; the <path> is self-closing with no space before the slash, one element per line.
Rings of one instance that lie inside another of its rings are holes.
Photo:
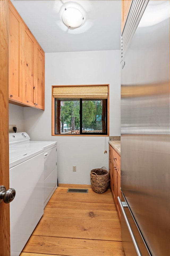
<path fill-rule="evenodd" d="M 9 167 L 14 167 L 20 163 L 43 153 L 43 149 L 16 149 L 15 147 L 10 147 L 9 150 Z"/>

